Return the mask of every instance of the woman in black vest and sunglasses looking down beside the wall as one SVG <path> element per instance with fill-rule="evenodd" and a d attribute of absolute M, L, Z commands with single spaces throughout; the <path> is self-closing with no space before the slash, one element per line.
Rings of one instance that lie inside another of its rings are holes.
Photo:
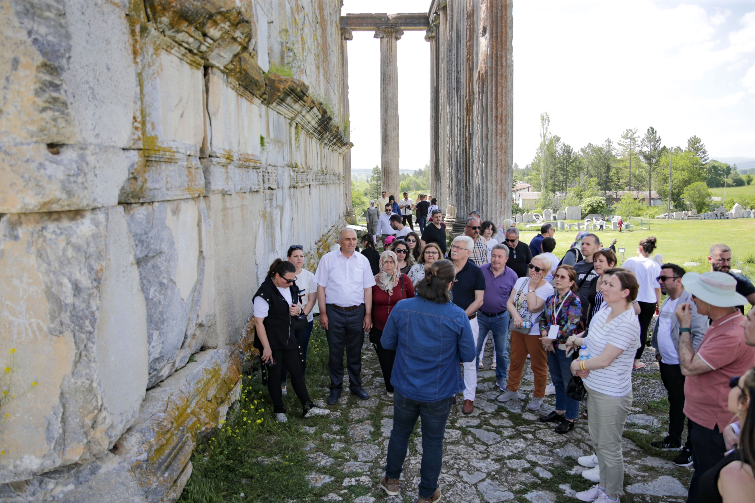
<path fill-rule="evenodd" d="M 296 266 L 291 262 L 276 259 L 267 278 L 254 294 L 254 347 L 262 353 L 262 363 L 267 365 L 267 389 L 273 400 L 273 413 L 277 422 L 285 422 L 285 407 L 281 392 L 281 363 L 291 374 L 291 386 L 304 408 L 304 417 L 324 416 L 328 409 L 320 409 L 312 403 L 304 383 L 303 356 L 294 336 L 294 316 L 304 312 L 304 306 L 294 303 L 298 288 Z"/>

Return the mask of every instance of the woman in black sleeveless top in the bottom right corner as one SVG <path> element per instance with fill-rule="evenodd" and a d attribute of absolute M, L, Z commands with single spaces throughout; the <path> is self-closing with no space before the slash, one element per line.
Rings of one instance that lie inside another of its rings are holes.
<path fill-rule="evenodd" d="M 755 400 L 755 369 L 732 377 L 729 386 L 729 412 L 738 419 L 738 438 L 735 449 L 700 477 L 700 501 L 706 503 L 752 501 L 755 494 L 755 406 L 750 406 Z"/>

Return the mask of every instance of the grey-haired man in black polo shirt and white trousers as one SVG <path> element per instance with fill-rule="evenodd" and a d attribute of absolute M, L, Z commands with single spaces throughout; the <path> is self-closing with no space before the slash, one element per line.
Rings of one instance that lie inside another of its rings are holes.
<path fill-rule="evenodd" d="M 449 256 L 456 268 L 456 281 L 451 287 L 451 299 L 455 305 L 464 309 L 470 319 L 475 347 L 479 336 L 477 309 L 485 300 L 485 275 L 469 259 L 474 248 L 474 241 L 469 236 L 459 236 L 451 243 Z M 464 407 L 461 412 L 471 414 L 474 410 L 474 398 L 477 388 L 477 362 L 464 363 Z"/>

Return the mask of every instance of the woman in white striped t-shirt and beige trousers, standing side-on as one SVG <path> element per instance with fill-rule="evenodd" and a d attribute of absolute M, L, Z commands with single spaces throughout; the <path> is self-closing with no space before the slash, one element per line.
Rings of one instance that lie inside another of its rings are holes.
<path fill-rule="evenodd" d="M 601 290 L 606 308 L 590 323 L 590 336 L 571 336 L 567 346 L 587 345 L 587 360 L 572 362 L 583 379 L 590 409 L 590 440 L 598 456 L 600 483 L 578 492 L 581 501 L 617 501 L 624 486 L 621 434 L 632 406 L 632 366 L 639 346 L 639 321 L 631 303 L 639 284 L 630 271 L 608 269 Z"/>

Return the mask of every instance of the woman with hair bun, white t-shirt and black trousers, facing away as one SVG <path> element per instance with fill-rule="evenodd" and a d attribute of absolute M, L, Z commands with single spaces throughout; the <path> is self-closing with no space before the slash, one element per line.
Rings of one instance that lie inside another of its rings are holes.
<path fill-rule="evenodd" d="M 634 368 L 641 369 L 645 363 L 639 359 L 643 357 L 646 342 L 648 342 L 648 328 L 653 314 L 661 308 L 661 284 L 658 283 L 658 275 L 661 274 L 661 265 L 650 258 L 650 254 L 658 246 L 655 236 L 639 241 L 637 256 L 624 261 L 622 265 L 627 271 L 633 272 L 639 292 L 637 292 L 637 304 L 639 305 L 639 349 L 634 357 Z"/>

